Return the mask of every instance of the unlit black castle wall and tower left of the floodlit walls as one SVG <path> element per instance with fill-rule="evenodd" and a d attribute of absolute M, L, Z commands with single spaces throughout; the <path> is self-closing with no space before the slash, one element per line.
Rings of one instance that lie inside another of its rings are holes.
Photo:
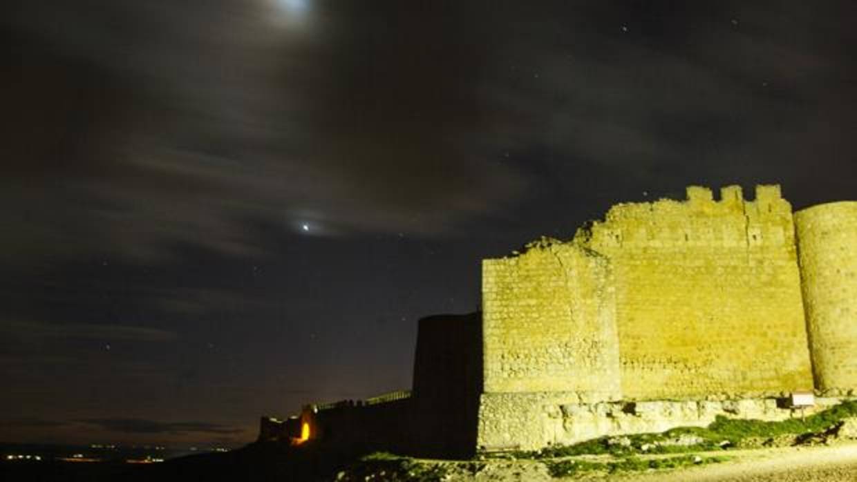
<path fill-rule="evenodd" d="M 476 449 L 482 393 L 482 313 L 419 320 L 413 390 L 304 408 L 310 439 L 349 453 L 467 457 Z M 263 418 L 260 440 L 283 440 Z"/>

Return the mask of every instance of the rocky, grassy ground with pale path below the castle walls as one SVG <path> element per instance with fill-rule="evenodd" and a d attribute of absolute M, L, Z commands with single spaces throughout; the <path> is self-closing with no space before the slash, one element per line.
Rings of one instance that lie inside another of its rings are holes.
<path fill-rule="evenodd" d="M 339 471 L 334 480 L 857 481 L 857 417 L 797 434 L 784 431 L 783 425 L 745 424 L 728 422 L 721 431 L 612 437 L 577 447 L 494 454 L 472 461 L 434 461 L 375 454 Z M 765 431 L 769 434 L 758 435 Z M 712 433 L 717 438 L 711 438 Z M 732 438 L 721 440 L 722 434 L 731 434 Z"/>

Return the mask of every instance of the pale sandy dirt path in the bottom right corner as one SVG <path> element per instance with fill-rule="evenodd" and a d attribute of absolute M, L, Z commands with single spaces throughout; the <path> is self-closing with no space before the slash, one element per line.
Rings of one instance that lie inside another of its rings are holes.
<path fill-rule="evenodd" d="M 855 482 L 857 443 L 834 447 L 753 450 L 738 460 L 675 473 L 646 473 L 626 482 Z"/>

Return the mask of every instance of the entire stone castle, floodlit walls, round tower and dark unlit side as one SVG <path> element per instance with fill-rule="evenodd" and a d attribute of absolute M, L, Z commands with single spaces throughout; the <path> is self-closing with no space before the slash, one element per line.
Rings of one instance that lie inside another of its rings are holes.
<path fill-rule="evenodd" d="M 415 358 L 408 397 L 312 406 L 309 438 L 466 456 L 785 420 L 794 393 L 830 406 L 857 395 L 857 202 L 793 215 L 779 186 L 692 186 L 614 205 L 483 260 L 482 312 L 423 318 Z M 262 420 L 261 440 L 293 420 Z"/>

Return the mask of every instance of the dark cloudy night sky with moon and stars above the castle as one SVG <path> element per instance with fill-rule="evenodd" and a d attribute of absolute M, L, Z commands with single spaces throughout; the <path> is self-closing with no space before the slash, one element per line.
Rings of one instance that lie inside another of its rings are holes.
<path fill-rule="evenodd" d="M 615 202 L 854 199 L 857 3 L 687 3 L 3 3 L 0 442 L 249 442 Z"/>

